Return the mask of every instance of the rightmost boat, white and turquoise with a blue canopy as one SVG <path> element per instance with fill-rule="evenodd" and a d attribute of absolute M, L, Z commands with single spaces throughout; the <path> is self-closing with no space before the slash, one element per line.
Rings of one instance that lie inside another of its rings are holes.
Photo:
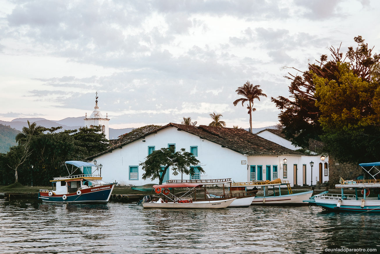
<path fill-rule="evenodd" d="M 380 180 L 376 175 L 380 173 L 380 162 L 359 164 L 373 179 L 368 180 L 344 180 L 340 178 L 336 188 L 341 189 L 340 194 L 320 193 L 309 200 L 309 204 L 315 204 L 330 211 L 353 211 L 353 212 L 380 212 Z M 366 167 L 370 167 L 367 169 Z M 355 190 L 355 194 L 345 194 L 345 189 Z M 358 193 L 360 191 L 360 194 Z M 374 196 L 369 196 L 373 192 Z"/>

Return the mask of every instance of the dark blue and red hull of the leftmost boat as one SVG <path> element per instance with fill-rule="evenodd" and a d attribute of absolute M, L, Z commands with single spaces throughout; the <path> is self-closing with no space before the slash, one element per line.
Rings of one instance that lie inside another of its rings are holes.
<path fill-rule="evenodd" d="M 38 198 L 50 203 L 107 203 L 111 197 L 115 184 L 102 185 L 82 189 L 81 194 L 70 193 L 49 196 L 48 192 L 39 192 Z M 66 196 L 66 199 L 63 199 Z"/>

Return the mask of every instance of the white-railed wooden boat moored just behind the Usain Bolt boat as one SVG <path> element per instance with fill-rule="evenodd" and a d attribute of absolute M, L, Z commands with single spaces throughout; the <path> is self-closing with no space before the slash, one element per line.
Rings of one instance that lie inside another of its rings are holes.
<path fill-rule="evenodd" d="M 242 192 L 231 190 L 231 178 L 226 179 L 197 179 L 197 180 L 169 180 L 167 183 L 201 183 L 204 186 L 204 198 L 198 200 L 209 199 L 225 199 L 236 198 L 228 207 L 249 207 L 252 204 L 253 198 L 255 198 L 256 192 Z M 206 185 L 222 185 L 223 195 L 213 195 L 207 192 Z M 226 193 L 225 185 L 230 185 L 229 192 Z M 200 190 L 201 191 L 201 190 Z"/>

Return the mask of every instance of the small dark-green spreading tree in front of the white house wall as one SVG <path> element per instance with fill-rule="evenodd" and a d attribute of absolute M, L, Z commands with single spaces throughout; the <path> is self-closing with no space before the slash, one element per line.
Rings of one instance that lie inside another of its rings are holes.
<path fill-rule="evenodd" d="M 200 173 L 204 173 L 203 168 L 199 165 L 200 161 L 192 153 L 186 152 L 184 148 L 178 152 L 174 152 L 174 149 L 174 147 L 161 148 L 148 155 L 145 162 L 139 164 L 145 171 L 142 179 L 150 178 L 152 181 L 158 179 L 159 184 L 162 184 L 169 167 L 174 176 L 179 173 L 194 174 L 194 167 L 197 167 Z"/>

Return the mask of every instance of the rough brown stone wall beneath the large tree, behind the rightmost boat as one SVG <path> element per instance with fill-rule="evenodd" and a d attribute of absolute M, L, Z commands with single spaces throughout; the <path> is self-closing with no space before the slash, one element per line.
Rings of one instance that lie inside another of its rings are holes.
<path fill-rule="evenodd" d="M 340 177 L 344 180 L 351 180 L 361 174 L 363 174 L 363 169 L 359 165 L 341 163 L 329 156 L 329 187 L 331 189 L 339 184 Z"/>

